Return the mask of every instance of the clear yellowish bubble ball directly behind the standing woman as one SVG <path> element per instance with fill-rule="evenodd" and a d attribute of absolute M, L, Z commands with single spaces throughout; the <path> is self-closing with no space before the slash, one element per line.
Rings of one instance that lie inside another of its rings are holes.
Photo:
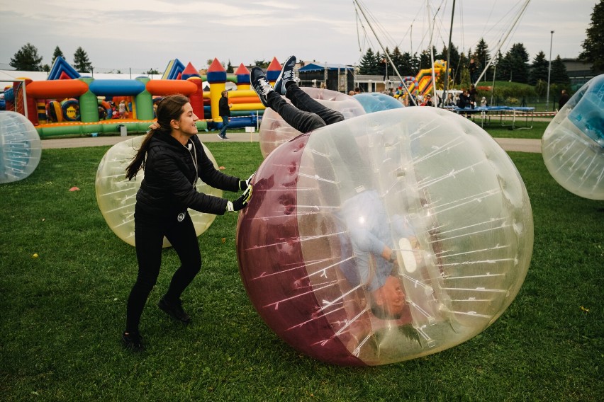
<path fill-rule="evenodd" d="M 145 177 L 145 171 L 138 171 L 136 179 L 128 180 L 125 178 L 125 168 L 130 164 L 144 138 L 145 136 L 141 135 L 113 145 L 101 159 L 96 171 L 96 202 L 99 204 L 101 214 L 113 233 L 130 246 L 135 246 L 134 207 L 136 193 Z M 214 167 L 218 168 L 218 163 L 205 145 L 203 145 L 203 150 L 213 162 Z M 197 190 L 216 197 L 223 195 L 222 190 L 203 183 L 201 179 L 197 181 Z M 214 214 L 203 214 L 193 209 L 189 209 L 189 214 L 197 236 L 206 231 L 216 218 Z M 165 237 L 163 246 L 170 246 Z"/>

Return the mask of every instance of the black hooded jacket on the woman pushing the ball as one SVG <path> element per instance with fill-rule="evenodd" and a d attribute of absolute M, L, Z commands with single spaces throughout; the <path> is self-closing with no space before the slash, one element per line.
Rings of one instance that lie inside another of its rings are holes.
<path fill-rule="evenodd" d="M 162 216 L 185 212 L 187 208 L 215 215 L 225 213 L 227 200 L 198 193 L 193 187 L 194 150 L 198 176 L 204 183 L 220 190 L 239 191 L 240 179 L 216 170 L 196 135 L 188 145 L 191 151 L 168 133 L 153 134 L 147 149 L 145 177 L 136 193 L 137 206 L 143 211 Z"/>

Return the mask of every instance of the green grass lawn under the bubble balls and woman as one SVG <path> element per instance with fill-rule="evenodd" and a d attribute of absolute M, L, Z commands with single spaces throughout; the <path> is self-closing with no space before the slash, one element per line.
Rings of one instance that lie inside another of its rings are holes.
<path fill-rule="evenodd" d="M 235 176 L 247 177 L 262 161 L 257 143 L 207 146 Z M 510 154 L 532 202 L 535 247 L 508 310 L 449 350 L 351 368 L 299 354 L 258 316 L 237 268 L 236 214 L 217 217 L 198 238 L 202 272 L 183 297 L 194 322 L 177 325 L 157 309 L 177 266 L 167 249 L 142 316 L 147 351 L 122 350 L 137 265 L 134 248 L 113 234 L 96 205 L 96 168 L 107 149 L 44 150 L 31 176 L 0 185 L 0 401 L 600 401 L 604 395 L 604 203 L 561 188 L 540 154 Z M 80 190 L 70 192 L 73 186 Z"/>

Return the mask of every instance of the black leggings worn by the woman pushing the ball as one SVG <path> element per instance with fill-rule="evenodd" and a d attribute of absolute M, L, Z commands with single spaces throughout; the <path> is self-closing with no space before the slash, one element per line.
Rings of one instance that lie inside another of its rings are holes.
<path fill-rule="evenodd" d="M 168 301 L 180 299 L 184 289 L 201 269 L 197 235 L 188 212 L 184 213 L 183 219 L 179 222 L 177 213 L 157 217 L 143 212 L 137 205 L 134 212 L 134 227 L 138 277 L 128 297 L 126 311 L 128 333 L 138 331 L 142 309 L 160 275 L 164 236 L 172 244 L 181 263 L 174 272 L 172 282 L 165 294 Z"/>

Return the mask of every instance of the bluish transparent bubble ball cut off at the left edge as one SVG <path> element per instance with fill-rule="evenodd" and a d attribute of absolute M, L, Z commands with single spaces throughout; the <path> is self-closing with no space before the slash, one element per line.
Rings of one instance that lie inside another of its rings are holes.
<path fill-rule="evenodd" d="M 28 177 L 40 163 L 42 141 L 21 113 L 0 111 L 0 183 Z"/>

